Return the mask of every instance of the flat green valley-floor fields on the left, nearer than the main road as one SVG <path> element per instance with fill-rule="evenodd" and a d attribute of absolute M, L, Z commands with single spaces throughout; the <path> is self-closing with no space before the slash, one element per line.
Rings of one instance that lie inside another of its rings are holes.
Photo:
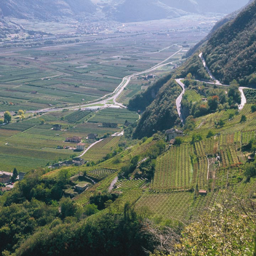
<path fill-rule="evenodd" d="M 1 126 L 0 169 L 10 172 L 16 167 L 18 171 L 27 172 L 31 169 L 46 167 L 79 154 L 72 150 L 76 148 L 76 143 L 65 142 L 67 137 L 78 136 L 86 142 L 86 137 L 90 133 L 97 133 L 100 137 L 107 133 L 113 134 L 120 131 L 120 129 L 99 126 L 98 123 L 75 124 L 75 122 L 85 121 L 88 114 L 90 113 L 86 111 L 56 112 Z M 41 124 L 42 119 L 44 124 Z M 52 130 L 52 126 L 56 123 L 62 124 L 63 129 Z M 118 140 L 114 141 L 118 142 Z M 113 145 L 108 143 L 109 147 L 103 148 L 95 158 L 103 158 L 111 153 L 112 146 L 116 145 L 116 143 Z M 70 148 L 57 149 L 57 146 Z"/>

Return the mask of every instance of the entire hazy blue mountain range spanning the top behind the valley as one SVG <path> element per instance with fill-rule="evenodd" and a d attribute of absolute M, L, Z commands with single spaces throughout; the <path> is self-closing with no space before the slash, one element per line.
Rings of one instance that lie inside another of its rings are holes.
<path fill-rule="evenodd" d="M 248 0 L 108 0 L 95 4 L 91 0 L 1 0 L 3 17 L 58 20 L 62 17 L 87 17 L 97 14 L 118 22 L 138 22 L 175 18 L 188 13 L 230 13 Z"/>

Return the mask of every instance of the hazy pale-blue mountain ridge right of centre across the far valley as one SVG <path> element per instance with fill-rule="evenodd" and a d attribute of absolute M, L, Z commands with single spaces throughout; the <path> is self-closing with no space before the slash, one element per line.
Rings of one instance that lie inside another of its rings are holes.
<path fill-rule="evenodd" d="M 159 18 L 176 18 L 187 13 L 216 12 L 228 14 L 247 4 L 248 0 L 124 0 L 103 8 L 106 16 L 119 22 L 140 22 Z"/>

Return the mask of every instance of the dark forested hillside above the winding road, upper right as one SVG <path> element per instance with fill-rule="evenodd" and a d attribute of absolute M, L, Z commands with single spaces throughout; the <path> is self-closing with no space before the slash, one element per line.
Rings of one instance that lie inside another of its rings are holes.
<path fill-rule="evenodd" d="M 209 69 L 228 84 L 256 84 L 256 1 L 226 23 L 202 49 Z"/>

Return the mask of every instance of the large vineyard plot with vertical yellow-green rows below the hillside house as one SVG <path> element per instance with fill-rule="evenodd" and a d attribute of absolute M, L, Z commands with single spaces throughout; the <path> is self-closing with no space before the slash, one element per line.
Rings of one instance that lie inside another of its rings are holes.
<path fill-rule="evenodd" d="M 193 167 L 190 145 L 173 146 L 158 158 L 152 190 L 189 190 L 192 185 Z"/>

